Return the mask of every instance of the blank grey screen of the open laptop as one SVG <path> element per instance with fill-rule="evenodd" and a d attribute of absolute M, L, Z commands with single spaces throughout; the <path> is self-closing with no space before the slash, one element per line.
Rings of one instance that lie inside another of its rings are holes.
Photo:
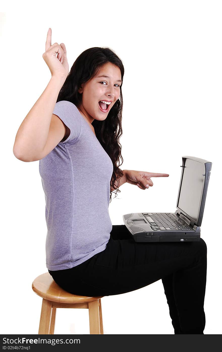
<path fill-rule="evenodd" d="M 204 187 L 205 165 L 186 159 L 177 207 L 197 221 Z"/>

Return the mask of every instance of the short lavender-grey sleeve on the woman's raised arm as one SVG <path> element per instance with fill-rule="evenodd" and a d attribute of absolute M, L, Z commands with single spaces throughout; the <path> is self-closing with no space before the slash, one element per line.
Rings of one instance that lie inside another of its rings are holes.
<path fill-rule="evenodd" d="M 81 115 L 77 107 L 67 100 L 58 101 L 53 110 L 53 114 L 57 115 L 70 129 L 69 137 L 60 143 L 76 142 L 82 126 Z"/>

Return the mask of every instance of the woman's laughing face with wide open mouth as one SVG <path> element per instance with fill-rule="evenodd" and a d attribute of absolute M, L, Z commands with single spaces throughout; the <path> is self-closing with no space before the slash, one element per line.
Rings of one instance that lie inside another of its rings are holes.
<path fill-rule="evenodd" d="M 121 83 L 119 67 L 107 63 L 100 68 L 95 77 L 83 83 L 82 88 L 78 89 L 78 92 L 82 94 L 82 104 L 79 109 L 90 123 L 94 119 L 106 119 L 110 109 L 120 97 Z M 104 103 L 101 103 L 102 100 L 111 103 L 104 105 Z"/>

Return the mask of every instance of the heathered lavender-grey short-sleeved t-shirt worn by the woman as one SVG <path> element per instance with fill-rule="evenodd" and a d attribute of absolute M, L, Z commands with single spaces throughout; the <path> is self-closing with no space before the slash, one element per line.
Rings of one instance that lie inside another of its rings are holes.
<path fill-rule="evenodd" d="M 63 270 L 106 248 L 113 163 L 73 103 L 57 102 L 53 114 L 71 132 L 39 160 L 39 173 L 46 202 L 46 267 Z"/>

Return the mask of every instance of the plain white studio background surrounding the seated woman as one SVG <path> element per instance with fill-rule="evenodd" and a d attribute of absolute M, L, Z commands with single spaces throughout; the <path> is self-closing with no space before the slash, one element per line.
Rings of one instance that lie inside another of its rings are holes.
<path fill-rule="evenodd" d="M 131 212 L 175 212 L 182 156 L 212 162 L 201 237 L 208 248 L 204 334 L 221 334 L 221 2 L 19 1 L 1 8 L 1 333 L 38 333 L 45 265 L 39 162 L 13 155 L 17 130 L 50 80 L 46 34 L 65 43 L 69 68 L 87 48 L 121 58 L 122 169 L 168 173 L 141 190 L 123 184 L 112 224 Z M 90 182 L 90 180 L 88 180 Z M 85 185 L 87 187 L 87 184 Z M 191 293 L 195 295 L 194 293 Z M 174 334 L 161 280 L 102 298 L 104 334 Z M 88 334 L 87 309 L 57 309 L 55 334 Z"/>

